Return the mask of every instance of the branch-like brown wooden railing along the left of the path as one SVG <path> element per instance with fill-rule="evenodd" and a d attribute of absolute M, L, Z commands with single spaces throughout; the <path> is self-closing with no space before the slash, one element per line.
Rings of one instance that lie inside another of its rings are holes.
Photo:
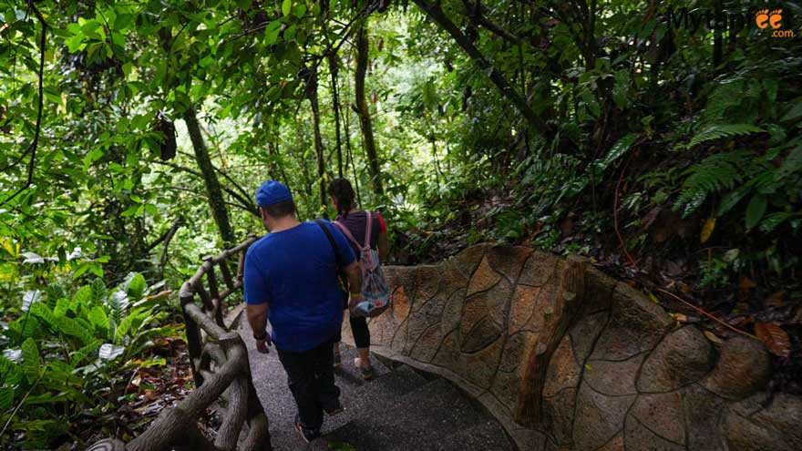
<path fill-rule="evenodd" d="M 105 439 L 88 451 L 269 451 L 267 416 L 256 395 L 248 362 L 248 350 L 239 333 L 226 330 L 223 323 L 225 300 L 242 288 L 245 251 L 257 240 L 251 236 L 240 245 L 207 257 L 180 290 L 181 310 L 187 333 L 192 374 L 197 388 L 179 405 L 165 410 L 148 429 L 128 444 Z M 231 276 L 231 257 L 237 256 L 236 277 Z M 217 268 L 225 283 L 221 292 Z M 204 287 L 204 276 L 207 286 Z M 207 288 L 208 287 L 208 288 Z M 201 305 L 195 302 L 195 295 Z M 207 407 L 221 399 L 223 421 L 214 440 L 200 431 L 198 420 Z M 248 436 L 238 447 L 242 426 L 248 422 Z"/>

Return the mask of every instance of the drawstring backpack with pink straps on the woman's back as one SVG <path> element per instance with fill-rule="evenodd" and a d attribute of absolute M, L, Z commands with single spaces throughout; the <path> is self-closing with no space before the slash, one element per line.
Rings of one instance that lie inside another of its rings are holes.
<path fill-rule="evenodd" d="M 335 220 L 334 225 L 359 250 L 359 266 L 362 269 L 362 296 L 365 301 L 359 302 L 356 305 L 356 310 L 372 318 L 387 310 L 387 306 L 390 304 L 390 285 L 387 283 L 385 272 L 382 271 L 382 266 L 379 264 L 378 252 L 370 247 L 373 217 L 370 211 L 365 211 L 365 213 L 367 213 L 367 226 L 365 228 L 364 246 L 356 242 L 354 235 L 351 234 L 351 231 L 348 231 L 344 224 Z"/>

